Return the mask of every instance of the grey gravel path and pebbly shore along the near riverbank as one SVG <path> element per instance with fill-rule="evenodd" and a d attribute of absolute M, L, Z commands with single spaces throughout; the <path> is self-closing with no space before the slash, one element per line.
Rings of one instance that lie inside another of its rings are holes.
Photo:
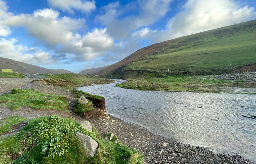
<path fill-rule="evenodd" d="M 115 133 L 116 136 L 127 146 L 135 148 L 142 152 L 145 156 L 145 163 L 244 163 L 249 164 L 253 162 L 245 159 L 239 155 L 223 155 L 216 154 L 210 148 L 194 147 L 182 143 L 172 142 L 163 138 L 149 130 L 136 126 L 119 118 L 103 115 L 101 118 L 84 118 L 74 113 L 73 104 L 76 97 L 67 90 L 59 87 L 50 86 L 41 82 L 29 83 L 31 79 L 0 79 L 1 87 L 0 93 L 8 93 L 12 88 L 28 87 L 40 92 L 45 92 L 55 95 L 65 95 L 69 97 L 68 108 L 71 115 L 61 111 L 40 111 L 32 108 L 23 107 L 18 111 L 9 110 L 6 107 L 0 107 L 0 116 L 8 117 L 11 115 L 20 115 L 27 118 L 48 116 L 51 114 L 58 114 L 65 118 L 74 118 L 77 122 L 87 119 L 93 126 L 95 126 L 102 137 L 109 133 Z M 5 87 L 3 87 L 5 86 Z"/>

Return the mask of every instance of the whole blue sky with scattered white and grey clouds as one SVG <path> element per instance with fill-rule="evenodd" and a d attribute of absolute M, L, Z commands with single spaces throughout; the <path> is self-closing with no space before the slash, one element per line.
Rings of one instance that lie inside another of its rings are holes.
<path fill-rule="evenodd" d="M 255 0 L 0 0 L 0 57 L 79 73 L 256 18 Z"/>

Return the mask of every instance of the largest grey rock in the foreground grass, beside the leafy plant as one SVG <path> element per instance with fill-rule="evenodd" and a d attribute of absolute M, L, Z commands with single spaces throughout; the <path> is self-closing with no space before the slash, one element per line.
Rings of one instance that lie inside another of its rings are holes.
<path fill-rule="evenodd" d="M 99 144 L 94 141 L 90 136 L 76 132 L 78 139 L 82 142 L 84 149 L 87 151 L 88 157 L 93 158 L 97 152 Z"/>

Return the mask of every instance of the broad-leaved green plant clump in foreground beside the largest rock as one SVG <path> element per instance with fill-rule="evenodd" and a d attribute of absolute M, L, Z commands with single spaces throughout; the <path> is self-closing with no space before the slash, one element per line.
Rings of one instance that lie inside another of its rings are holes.
<path fill-rule="evenodd" d="M 48 154 L 48 157 L 63 156 L 69 148 L 69 140 L 63 143 L 63 137 L 67 133 L 76 132 L 86 134 L 93 139 L 96 138 L 95 133 L 89 132 L 80 124 L 52 115 L 43 119 L 29 131 L 28 146 L 42 145 L 41 153 Z"/>

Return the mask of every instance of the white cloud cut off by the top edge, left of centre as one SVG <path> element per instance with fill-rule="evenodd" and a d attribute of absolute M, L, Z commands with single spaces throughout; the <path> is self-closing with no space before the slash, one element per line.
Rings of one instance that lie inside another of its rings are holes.
<path fill-rule="evenodd" d="M 80 10 L 84 13 L 91 13 L 96 9 L 95 1 L 81 1 L 81 0 L 48 0 L 48 3 L 54 7 L 63 11 L 73 13 L 74 10 Z"/>

